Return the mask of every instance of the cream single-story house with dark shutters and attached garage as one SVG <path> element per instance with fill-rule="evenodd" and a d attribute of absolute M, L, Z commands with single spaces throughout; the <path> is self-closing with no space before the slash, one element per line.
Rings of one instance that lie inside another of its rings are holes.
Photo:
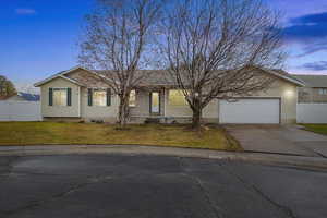
<path fill-rule="evenodd" d="M 146 73 L 143 83 L 131 93 L 131 122 L 147 119 L 160 122 L 189 122 L 192 111 L 166 71 Z M 213 123 L 293 123 L 296 121 L 299 80 L 284 71 L 264 71 L 276 80 L 266 92 L 234 101 L 215 99 L 203 111 Z M 119 98 L 104 83 L 104 71 L 74 68 L 39 83 L 44 120 L 116 122 Z"/>

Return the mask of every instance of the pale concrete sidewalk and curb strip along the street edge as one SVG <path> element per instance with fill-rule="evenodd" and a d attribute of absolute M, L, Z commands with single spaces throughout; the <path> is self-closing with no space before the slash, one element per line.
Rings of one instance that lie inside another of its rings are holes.
<path fill-rule="evenodd" d="M 265 153 L 234 153 L 195 148 L 174 148 L 140 145 L 36 145 L 0 146 L 0 156 L 36 155 L 84 155 L 84 154 L 123 154 L 123 155 L 162 155 L 190 158 L 209 158 L 221 160 L 253 161 L 268 165 L 290 165 L 327 169 L 327 158 L 277 155 Z"/>

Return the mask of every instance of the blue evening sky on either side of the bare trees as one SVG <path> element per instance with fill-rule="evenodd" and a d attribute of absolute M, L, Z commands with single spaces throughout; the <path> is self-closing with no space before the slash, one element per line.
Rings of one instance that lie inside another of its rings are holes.
<path fill-rule="evenodd" d="M 327 74 L 327 1 L 266 0 L 283 13 L 290 73 Z M 0 74 L 17 86 L 77 64 L 94 0 L 0 0 Z"/>

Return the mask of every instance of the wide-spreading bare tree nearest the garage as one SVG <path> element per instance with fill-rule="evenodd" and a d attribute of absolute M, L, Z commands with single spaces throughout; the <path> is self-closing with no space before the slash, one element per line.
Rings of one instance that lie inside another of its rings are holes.
<path fill-rule="evenodd" d="M 269 86 L 259 69 L 282 63 L 279 15 L 258 0 L 181 0 L 158 40 L 165 64 L 193 111 L 193 128 L 214 99 Z"/>

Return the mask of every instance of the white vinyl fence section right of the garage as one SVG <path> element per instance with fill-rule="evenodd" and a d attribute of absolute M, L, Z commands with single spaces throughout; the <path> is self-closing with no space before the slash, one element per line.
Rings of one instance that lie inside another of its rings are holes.
<path fill-rule="evenodd" d="M 327 104 L 298 104 L 298 123 L 327 123 Z"/>

